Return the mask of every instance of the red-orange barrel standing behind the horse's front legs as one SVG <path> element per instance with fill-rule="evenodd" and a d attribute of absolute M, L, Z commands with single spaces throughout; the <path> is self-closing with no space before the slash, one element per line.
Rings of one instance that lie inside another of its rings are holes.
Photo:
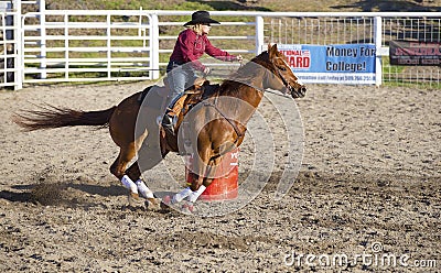
<path fill-rule="evenodd" d="M 190 185 L 196 175 L 190 171 L 193 164 L 192 155 L 185 166 L 186 183 Z M 239 178 L 239 149 L 235 148 L 226 153 L 216 168 L 215 177 L 202 193 L 200 199 L 205 201 L 228 200 L 237 198 Z"/>

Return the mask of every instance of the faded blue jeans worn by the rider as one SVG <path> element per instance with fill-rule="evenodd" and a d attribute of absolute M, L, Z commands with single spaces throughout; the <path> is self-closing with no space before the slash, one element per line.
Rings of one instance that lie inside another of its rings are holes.
<path fill-rule="evenodd" d="M 193 67 L 191 67 L 191 64 L 182 66 L 182 64 L 172 61 L 166 66 L 166 75 L 170 86 L 170 92 L 168 97 L 169 105 L 174 103 L 174 101 L 181 97 L 184 90 L 192 86 L 194 80 L 197 78 L 195 70 Z"/>

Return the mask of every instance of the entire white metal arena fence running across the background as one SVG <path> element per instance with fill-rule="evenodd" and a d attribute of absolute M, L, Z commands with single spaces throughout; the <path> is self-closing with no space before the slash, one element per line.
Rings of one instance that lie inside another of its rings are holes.
<path fill-rule="evenodd" d="M 0 1 L 1 3 L 2 1 Z M 45 10 L 21 14 L 20 0 L 1 13 L 0 86 L 20 89 L 45 81 L 155 79 L 192 11 Z M 213 11 L 222 22 L 211 41 L 251 58 L 268 43 L 372 43 L 377 52 L 377 85 L 385 81 L 440 86 L 440 67 L 390 66 L 391 40 L 440 42 L 441 12 L 235 12 Z M 11 22 L 13 19 L 13 24 Z M 11 51 L 12 47 L 13 50 Z M 9 48 L 9 51 L 8 51 Z M 13 65 L 8 62 L 13 61 Z M 222 66 L 219 63 L 207 65 Z M 13 75 L 7 77 L 6 75 Z"/>

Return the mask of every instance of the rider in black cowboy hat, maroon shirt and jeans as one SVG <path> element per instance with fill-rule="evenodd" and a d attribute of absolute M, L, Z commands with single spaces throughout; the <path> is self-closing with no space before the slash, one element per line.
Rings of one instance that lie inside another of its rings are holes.
<path fill-rule="evenodd" d="M 176 44 L 172 55 L 170 56 L 169 65 L 166 66 L 168 84 L 170 94 L 168 96 L 169 110 L 166 111 L 162 125 L 164 129 L 174 134 L 174 125 L 176 116 L 181 111 L 180 105 L 175 105 L 184 90 L 192 86 L 197 78 L 196 70 L 203 72 L 205 75 L 209 73 L 209 67 L 204 66 L 198 58 L 207 53 L 209 56 L 225 62 L 238 61 L 241 62 L 240 55 L 235 56 L 222 51 L 212 45 L 207 34 L 211 30 L 211 24 L 220 24 L 209 18 L 207 11 L 196 11 L 192 14 L 192 21 L 184 24 L 189 26 L 178 36 Z M 190 65 L 184 65 L 191 63 Z"/>

